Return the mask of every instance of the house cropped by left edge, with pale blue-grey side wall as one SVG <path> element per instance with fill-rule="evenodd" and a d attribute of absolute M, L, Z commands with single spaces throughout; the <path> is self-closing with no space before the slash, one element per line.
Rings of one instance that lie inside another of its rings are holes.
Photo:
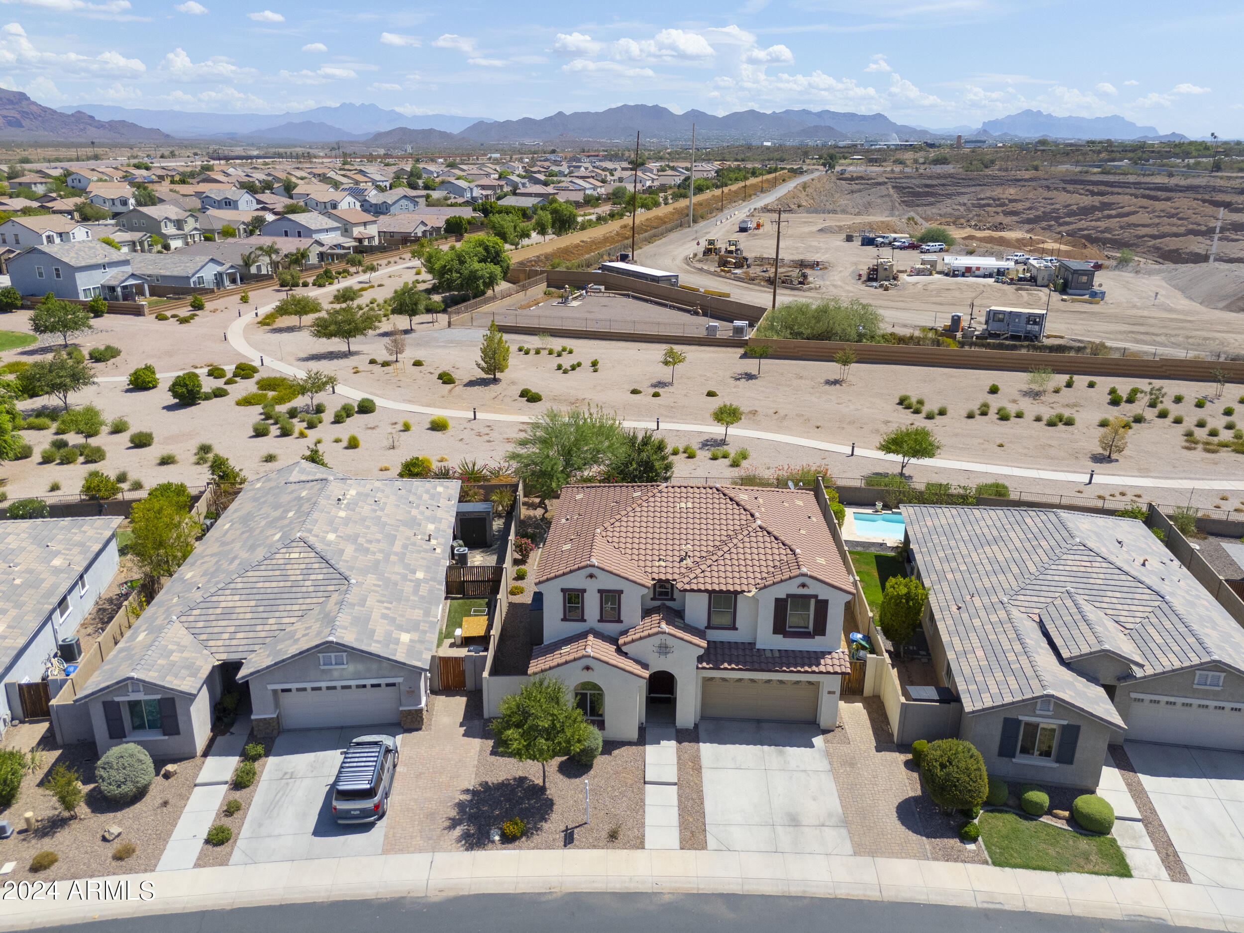
<path fill-rule="evenodd" d="M 73 637 L 112 582 L 119 525 L 119 518 L 107 515 L 4 522 L 0 682 L 5 689 L 0 695 L 0 733 L 12 720 L 47 715 L 39 708 L 42 700 L 37 697 L 30 698 L 34 709 L 24 709 L 21 684 L 45 679 L 61 638 Z"/>

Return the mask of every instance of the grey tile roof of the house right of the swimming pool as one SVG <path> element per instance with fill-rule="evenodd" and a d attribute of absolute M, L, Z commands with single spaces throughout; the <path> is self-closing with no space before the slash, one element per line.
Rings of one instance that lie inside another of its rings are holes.
<path fill-rule="evenodd" d="M 1055 695 L 1122 728 L 1074 662 L 1136 678 L 1218 661 L 1244 631 L 1141 522 L 1045 509 L 904 505 L 929 602 L 969 713 Z"/>

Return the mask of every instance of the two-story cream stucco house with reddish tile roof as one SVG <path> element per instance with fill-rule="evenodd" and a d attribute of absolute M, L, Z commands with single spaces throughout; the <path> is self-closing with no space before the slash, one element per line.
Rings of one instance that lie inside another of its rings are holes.
<path fill-rule="evenodd" d="M 653 703 L 679 729 L 837 724 L 855 583 L 811 490 L 566 486 L 535 587 L 527 674 L 561 680 L 607 739 L 634 740 Z"/>

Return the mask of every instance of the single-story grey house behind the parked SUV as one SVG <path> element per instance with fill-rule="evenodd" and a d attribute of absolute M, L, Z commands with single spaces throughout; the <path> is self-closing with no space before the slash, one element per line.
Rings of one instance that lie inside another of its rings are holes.
<path fill-rule="evenodd" d="M 305 460 L 248 483 L 75 699 L 100 753 L 198 754 L 234 688 L 261 736 L 422 728 L 458 490 Z"/>

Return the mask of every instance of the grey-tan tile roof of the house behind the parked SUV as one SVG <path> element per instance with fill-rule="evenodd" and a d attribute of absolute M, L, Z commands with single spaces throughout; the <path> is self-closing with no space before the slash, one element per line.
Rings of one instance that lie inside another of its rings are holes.
<path fill-rule="evenodd" d="M 80 699 L 131 678 L 193 694 L 220 661 L 248 679 L 325 643 L 425 668 L 458 488 L 304 460 L 248 483 Z"/>

